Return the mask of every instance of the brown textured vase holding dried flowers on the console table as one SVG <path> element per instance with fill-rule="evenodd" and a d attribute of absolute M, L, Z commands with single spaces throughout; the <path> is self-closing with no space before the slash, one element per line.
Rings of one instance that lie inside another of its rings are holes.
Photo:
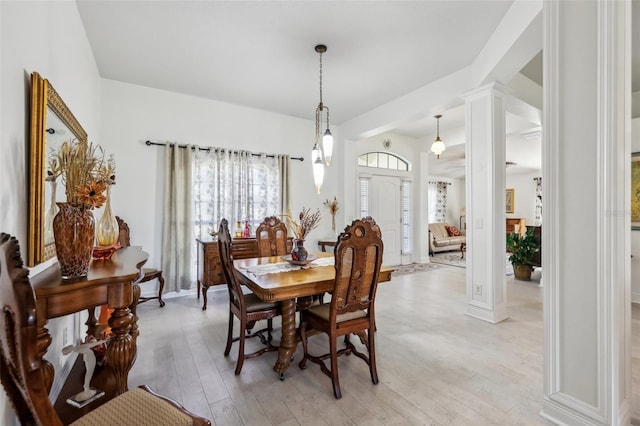
<path fill-rule="evenodd" d="M 62 278 L 84 277 L 89 271 L 95 220 L 84 204 L 57 203 L 60 211 L 53 218 L 53 235 Z"/>

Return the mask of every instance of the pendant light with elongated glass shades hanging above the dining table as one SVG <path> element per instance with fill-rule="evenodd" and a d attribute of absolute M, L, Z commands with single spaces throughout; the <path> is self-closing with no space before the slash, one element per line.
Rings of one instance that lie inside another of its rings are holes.
<path fill-rule="evenodd" d="M 322 54 L 327 51 L 327 46 L 319 44 L 315 47 L 315 51 L 320 54 L 320 103 L 316 108 L 316 141 L 311 150 L 311 162 L 316 191 L 320 194 L 324 180 L 324 166 L 331 164 L 333 156 L 333 135 L 329 130 L 329 107 L 322 102 Z"/>

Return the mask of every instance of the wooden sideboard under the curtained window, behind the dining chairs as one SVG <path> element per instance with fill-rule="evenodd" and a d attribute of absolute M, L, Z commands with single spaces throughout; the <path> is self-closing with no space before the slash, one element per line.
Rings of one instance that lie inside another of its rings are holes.
<path fill-rule="evenodd" d="M 207 290 L 214 285 L 226 284 L 220 255 L 218 240 L 211 237 L 196 238 L 198 242 L 198 299 L 202 289 L 202 310 L 207 309 Z M 293 239 L 287 238 L 287 252 L 293 247 Z M 234 259 L 258 257 L 258 242 L 255 238 L 234 238 L 231 243 Z"/>

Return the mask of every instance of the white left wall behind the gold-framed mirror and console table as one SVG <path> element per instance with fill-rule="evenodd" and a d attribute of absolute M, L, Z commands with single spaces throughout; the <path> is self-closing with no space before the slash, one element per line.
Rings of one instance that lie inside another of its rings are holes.
<path fill-rule="evenodd" d="M 30 75 L 39 72 L 61 95 L 89 137 L 99 142 L 100 78 L 75 2 L 0 2 L 0 231 L 14 235 L 26 255 Z M 31 274 L 42 268 L 36 268 Z M 78 323 L 76 321 L 76 323 Z M 60 355 L 63 326 L 49 322 L 53 343 L 47 358 Z M 58 356 L 60 359 L 58 360 Z M 15 416 L 0 391 L 0 424 Z"/>

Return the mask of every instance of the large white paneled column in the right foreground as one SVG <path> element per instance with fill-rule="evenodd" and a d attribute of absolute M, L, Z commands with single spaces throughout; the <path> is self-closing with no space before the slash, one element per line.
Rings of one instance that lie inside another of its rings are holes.
<path fill-rule="evenodd" d="M 541 415 L 628 425 L 631 2 L 545 1 L 543 13 Z"/>

